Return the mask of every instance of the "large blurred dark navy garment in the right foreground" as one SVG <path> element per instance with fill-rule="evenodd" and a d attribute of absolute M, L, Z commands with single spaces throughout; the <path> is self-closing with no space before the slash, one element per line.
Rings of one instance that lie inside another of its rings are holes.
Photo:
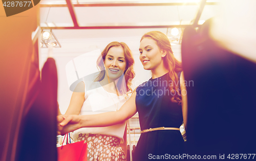
<path fill-rule="evenodd" d="M 183 33 L 184 78 L 194 83 L 186 87 L 188 151 L 255 153 L 256 64 L 211 40 L 210 23 Z"/>

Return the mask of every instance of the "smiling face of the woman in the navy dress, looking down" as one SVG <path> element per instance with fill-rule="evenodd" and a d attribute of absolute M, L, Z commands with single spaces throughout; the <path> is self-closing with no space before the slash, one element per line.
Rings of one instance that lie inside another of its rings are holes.
<path fill-rule="evenodd" d="M 151 38 L 143 38 L 140 42 L 140 61 L 146 70 L 155 70 L 163 64 L 162 58 L 166 55 L 157 42 Z"/>

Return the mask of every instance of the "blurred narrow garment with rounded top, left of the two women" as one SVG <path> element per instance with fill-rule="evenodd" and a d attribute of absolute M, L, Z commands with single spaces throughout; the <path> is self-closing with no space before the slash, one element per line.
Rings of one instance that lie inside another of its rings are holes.
<path fill-rule="evenodd" d="M 53 58 L 48 58 L 42 68 L 41 82 L 37 75 L 30 87 L 26 100 L 29 108 L 23 116 L 16 160 L 56 161 L 57 69 Z"/>

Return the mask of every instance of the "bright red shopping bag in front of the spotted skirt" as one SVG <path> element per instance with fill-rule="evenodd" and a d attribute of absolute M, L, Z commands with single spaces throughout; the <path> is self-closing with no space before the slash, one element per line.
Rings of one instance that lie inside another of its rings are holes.
<path fill-rule="evenodd" d="M 57 147 L 58 161 L 87 161 L 87 143 L 80 141 L 63 146 L 63 142 L 60 147 Z"/>

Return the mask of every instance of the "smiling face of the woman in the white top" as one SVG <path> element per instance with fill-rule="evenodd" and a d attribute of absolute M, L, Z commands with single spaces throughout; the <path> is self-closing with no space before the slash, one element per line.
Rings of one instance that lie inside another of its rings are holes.
<path fill-rule="evenodd" d="M 104 60 L 106 74 L 111 79 L 119 78 L 126 70 L 126 62 L 122 46 L 111 47 Z"/>

